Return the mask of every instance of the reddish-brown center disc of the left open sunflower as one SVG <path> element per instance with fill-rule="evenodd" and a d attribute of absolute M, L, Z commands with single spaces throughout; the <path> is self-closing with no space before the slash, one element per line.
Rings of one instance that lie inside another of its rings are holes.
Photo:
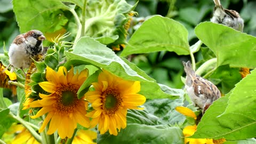
<path fill-rule="evenodd" d="M 62 85 L 57 88 L 55 108 L 61 113 L 72 113 L 72 111 L 79 105 L 77 98 L 77 90 L 79 89 L 76 85 Z"/>

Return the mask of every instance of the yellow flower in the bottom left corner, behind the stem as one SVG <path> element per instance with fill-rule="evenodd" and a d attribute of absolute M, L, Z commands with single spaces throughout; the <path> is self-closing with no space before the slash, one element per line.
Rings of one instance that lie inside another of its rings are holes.
<path fill-rule="evenodd" d="M 18 133 L 15 135 L 14 139 L 10 139 L 11 141 L 5 141 L 7 143 L 12 143 L 12 144 L 21 144 L 21 143 L 27 143 L 27 144 L 39 144 L 38 141 L 31 135 L 31 133 L 21 124 L 13 124 L 8 131 L 6 131 L 3 135 L 3 138 L 7 139 L 9 135 L 13 137 L 14 134 Z"/>

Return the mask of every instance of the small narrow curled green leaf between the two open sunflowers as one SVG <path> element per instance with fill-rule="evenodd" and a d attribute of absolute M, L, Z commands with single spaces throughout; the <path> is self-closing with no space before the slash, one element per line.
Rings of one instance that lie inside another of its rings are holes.
<path fill-rule="evenodd" d="M 78 99 L 81 99 L 84 96 L 84 94 L 89 90 L 92 83 L 98 82 L 98 76 L 100 73 L 101 73 L 101 70 L 97 70 L 95 71 L 94 74 L 87 77 L 86 81 L 81 85 L 81 87 L 77 92 Z"/>

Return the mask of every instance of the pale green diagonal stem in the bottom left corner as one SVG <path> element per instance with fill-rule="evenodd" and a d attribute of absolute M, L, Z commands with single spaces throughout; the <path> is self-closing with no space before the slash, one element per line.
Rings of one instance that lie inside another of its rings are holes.
<path fill-rule="evenodd" d="M 15 116 L 12 113 L 9 113 L 14 119 L 16 119 L 18 122 L 20 122 L 26 129 L 33 135 L 33 137 L 39 142 L 42 143 L 42 138 L 40 135 L 31 127 L 28 122 L 24 121 L 22 118 L 19 116 Z"/>

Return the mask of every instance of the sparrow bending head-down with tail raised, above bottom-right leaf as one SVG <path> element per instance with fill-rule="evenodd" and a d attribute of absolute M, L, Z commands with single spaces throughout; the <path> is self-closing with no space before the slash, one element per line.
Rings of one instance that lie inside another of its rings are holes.
<path fill-rule="evenodd" d="M 205 110 L 212 105 L 212 102 L 221 97 L 221 93 L 212 82 L 195 74 L 190 61 L 182 61 L 182 63 L 187 74 L 185 85 L 187 94 L 194 106 L 201 108 L 204 114 Z"/>

